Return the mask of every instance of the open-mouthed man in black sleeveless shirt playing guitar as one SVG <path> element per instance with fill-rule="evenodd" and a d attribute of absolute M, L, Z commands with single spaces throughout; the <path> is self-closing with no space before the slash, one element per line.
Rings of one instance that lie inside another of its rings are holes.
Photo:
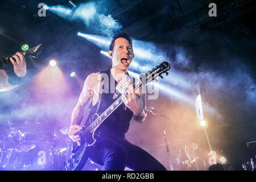
<path fill-rule="evenodd" d="M 79 125 L 84 111 L 90 112 L 89 118 L 97 109 L 104 111 L 114 101 L 114 93 L 110 92 L 110 82 L 113 81 L 117 85 L 127 75 L 128 68 L 134 58 L 132 41 L 127 34 L 121 32 L 114 35 L 109 48 L 109 57 L 112 59 L 112 68 L 92 73 L 86 78 L 79 101 L 73 109 L 69 137 L 79 145 L 81 145 L 81 137 L 77 133 L 82 129 Z M 105 89 L 99 98 L 103 74 L 109 77 L 109 83 L 104 81 L 104 86 L 105 88 L 108 86 L 108 90 L 105 92 Z M 101 123 L 98 128 L 100 131 L 99 137 L 93 146 L 86 148 L 86 154 L 94 163 L 103 166 L 103 170 L 108 171 L 124 170 L 125 167 L 136 171 L 166 170 L 148 152 L 131 144 L 125 138 L 131 118 L 134 118 L 137 122 L 143 122 L 147 116 L 146 93 L 135 92 L 131 82 L 127 85 L 127 90 L 128 93 L 122 93 L 124 103 Z M 97 108 L 99 100 L 100 105 Z M 90 101 L 91 104 L 89 104 Z M 86 105 L 89 105 L 89 107 L 86 107 Z"/>

